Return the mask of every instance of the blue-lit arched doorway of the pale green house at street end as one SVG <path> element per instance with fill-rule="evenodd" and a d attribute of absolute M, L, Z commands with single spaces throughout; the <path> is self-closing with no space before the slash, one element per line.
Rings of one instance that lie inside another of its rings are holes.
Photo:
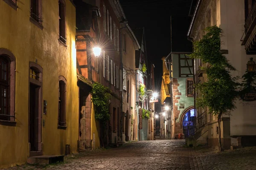
<path fill-rule="evenodd" d="M 195 109 L 189 109 L 183 116 L 182 127 L 185 138 L 189 137 L 189 129 L 194 128 L 193 123 L 195 122 Z"/>

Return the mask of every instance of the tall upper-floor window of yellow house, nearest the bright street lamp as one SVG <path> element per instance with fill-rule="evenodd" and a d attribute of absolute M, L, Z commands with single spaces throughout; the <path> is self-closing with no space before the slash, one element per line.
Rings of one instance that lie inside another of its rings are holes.
<path fill-rule="evenodd" d="M 63 0 L 59 0 L 59 40 L 66 44 L 66 6 Z"/>

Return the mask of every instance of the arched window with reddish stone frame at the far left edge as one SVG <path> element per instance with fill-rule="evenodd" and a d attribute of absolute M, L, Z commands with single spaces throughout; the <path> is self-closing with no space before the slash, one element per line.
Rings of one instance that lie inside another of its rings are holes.
<path fill-rule="evenodd" d="M 15 122 L 15 57 L 0 48 L 0 120 Z"/>

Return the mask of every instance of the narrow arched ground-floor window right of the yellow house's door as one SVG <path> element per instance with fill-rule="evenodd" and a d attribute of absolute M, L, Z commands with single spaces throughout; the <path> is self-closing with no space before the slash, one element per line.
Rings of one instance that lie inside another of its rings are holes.
<path fill-rule="evenodd" d="M 58 125 L 66 126 L 66 79 L 59 77 L 58 88 Z"/>

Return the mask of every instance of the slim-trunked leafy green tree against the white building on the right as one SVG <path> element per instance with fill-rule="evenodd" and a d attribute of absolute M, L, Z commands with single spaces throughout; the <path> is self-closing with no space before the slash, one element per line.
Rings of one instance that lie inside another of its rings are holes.
<path fill-rule="evenodd" d="M 211 26 L 205 28 L 207 34 L 199 41 L 193 42 L 194 52 L 191 57 L 209 63 L 209 67 L 201 68 L 206 71 L 207 82 L 195 86 L 199 95 L 196 99 L 197 107 L 208 107 L 209 113 L 218 115 L 219 150 L 223 151 L 221 143 L 221 116 L 230 114 L 238 96 L 238 77 L 232 77 L 230 71 L 236 71 L 221 53 L 221 28 Z"/>

